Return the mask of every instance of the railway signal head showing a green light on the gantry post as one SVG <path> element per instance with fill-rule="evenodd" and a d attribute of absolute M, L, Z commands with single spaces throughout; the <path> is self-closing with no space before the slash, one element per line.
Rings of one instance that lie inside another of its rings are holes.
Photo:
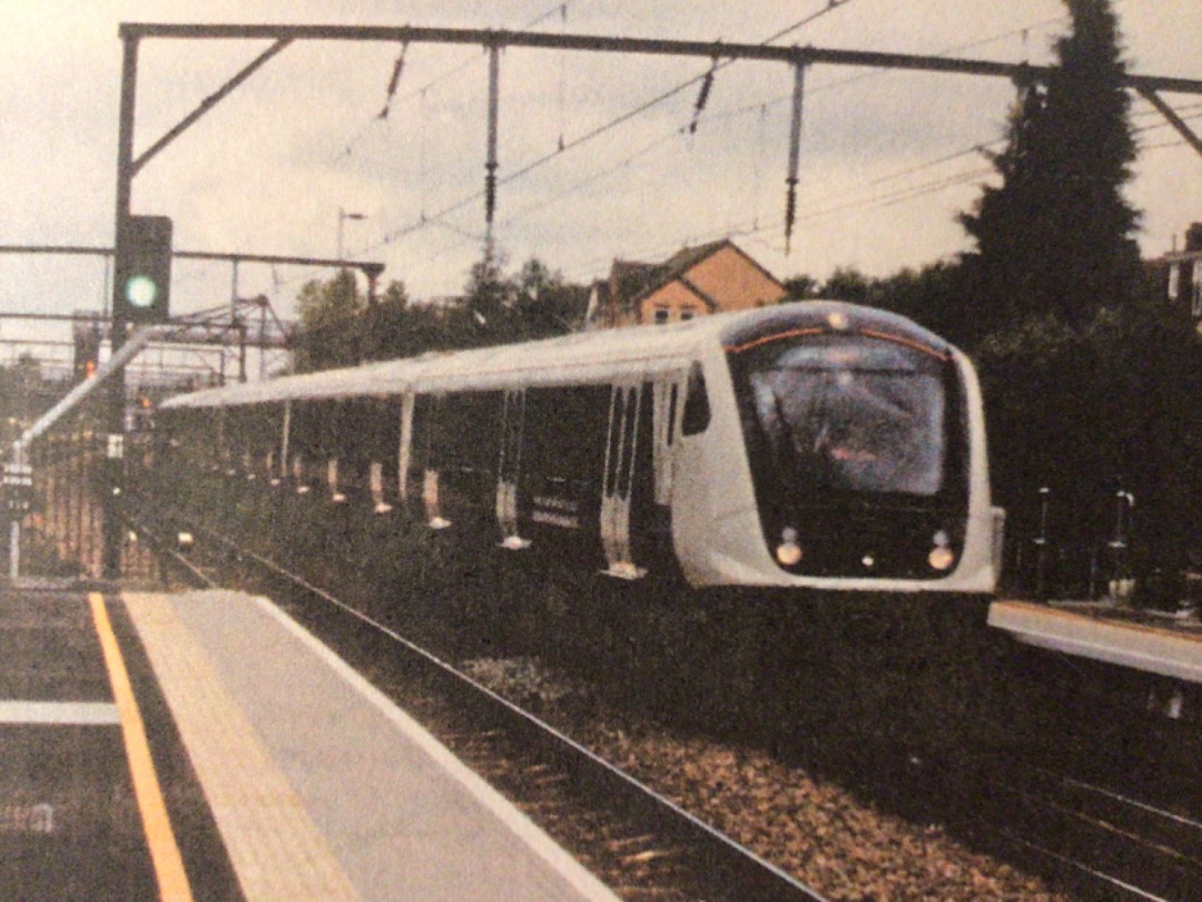
<path fill-rule="evenodd" d="M 117 236 L 113 318 L 166 322 L 171 301 L 171 219 L 129 216 Z"/>

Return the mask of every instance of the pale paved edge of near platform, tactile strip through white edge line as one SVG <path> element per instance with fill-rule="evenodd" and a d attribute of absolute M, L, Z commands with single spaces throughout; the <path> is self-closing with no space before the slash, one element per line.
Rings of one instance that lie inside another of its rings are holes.
<path fill-rule="evenodd" d="M 614 900 L 262 598 L 123 600 L 248 900 Z"/>

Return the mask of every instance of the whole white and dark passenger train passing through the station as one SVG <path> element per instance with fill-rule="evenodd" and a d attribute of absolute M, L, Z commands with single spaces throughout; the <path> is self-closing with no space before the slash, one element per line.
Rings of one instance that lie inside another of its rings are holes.
<path fill-rule="evenodd" d="M 988 594 L 968 357 L 807 301 L 175 396 L 157 458 L 412 516 L 488 553 L 692 589 Z"/>

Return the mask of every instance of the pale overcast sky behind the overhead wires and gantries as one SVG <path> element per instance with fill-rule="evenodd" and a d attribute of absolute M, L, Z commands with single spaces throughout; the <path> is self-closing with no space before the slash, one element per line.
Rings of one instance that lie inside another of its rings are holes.
<path fill-rule="evenodd" d="M 0 244 L 105 245 L 113 194 L 125 22 L 240 22 L 530 29 L 760 43 L 827 0 L 0 0 Z M 1135 72 L 1202 78 L 1197 0 L 1117 0 Z M 775 41 L 1002 61 L 1049 59 L 1061 0 L 844 0 Z M 136 152 L 262 49 L 249 41 L 145 41 Z M 339 210 L 347 255 L 386 263 L 418 298 L 459 291 L 483 235 L 487 57 L 415 44 L 389 114 L 379 114 L 401 48 L 300 42 L 155 158 L 135 213 L 165 214 L 177 250 L 332 257 Z M 697 87 L 582 138 L 697 77 L 688 59 L 511 48 L 501 58 L 495 236 L 512 267 L 537 256 L 577 281 L 614 257 L 657 260 L 731 236 L 774 274 L 839 266 L 887 274 L 964 249 L 954 215 L 988 178 L 975 150 L 1002 133 L 1002 79 L 816 66 L 807 76 L 798 224 L 784 253 L 792 73 L 722 67 L 695 133 Z M 1165 95 L 1202 130 L 1202 97 Z M 1150 107 L 1133 106 L 1130 201 L 1146 255 L 1202 220 L 1202 156 Z M 560 142 L 567 146 L 555 153 Z M 506 180 L 531 162 L 526 174 Z M 94 259 L 0 257 L 0 310 L 99 309 Z M 320 271 L 243 266 L 243 296 L 294 314 Z M 174 310 L 226 302 L 227 265 L 177 261 Z M 11 326 L 5 326 L 10 334 Z"/>

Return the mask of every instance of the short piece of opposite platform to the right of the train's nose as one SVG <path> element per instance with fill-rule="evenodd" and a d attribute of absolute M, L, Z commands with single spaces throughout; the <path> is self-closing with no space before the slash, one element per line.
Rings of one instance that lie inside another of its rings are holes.
<path fill-rule="evenodd" d="M 1202 683 L 1202 622 L 1107 603 L 994 601 L 988 623 L 1020 642 Z"/>

